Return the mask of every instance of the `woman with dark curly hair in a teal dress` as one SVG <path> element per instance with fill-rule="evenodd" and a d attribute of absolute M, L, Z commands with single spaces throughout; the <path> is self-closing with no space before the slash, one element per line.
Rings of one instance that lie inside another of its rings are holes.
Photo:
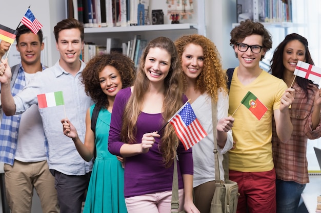
<path fill-rule="evenodd" d="M 87 63 L 82 73 L 85 91 L 95 102 L 87 110 L 84 144 L 72 123 L 69 120 L 62 120 L 64 134 L 72 138 L 84 160 L 92 159 L 96 147 L 97 156 L 83 212 L 127 212 L 124 199 L 124 169 L 116 156 L 108 152 L 107 140 L 115 96 L 122 88 L 132 85 L 134 74 L 134 62 L 123 54 L 95 56 Z M 91 119 L 95 105 L 100 110 L 93 132 Z"/>

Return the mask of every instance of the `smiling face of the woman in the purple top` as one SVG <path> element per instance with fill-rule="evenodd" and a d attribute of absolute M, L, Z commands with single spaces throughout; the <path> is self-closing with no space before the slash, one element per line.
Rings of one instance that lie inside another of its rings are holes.
<path fill-rule="evenodd" d="M 150 82 L 164 83 L 171 66 L 171 55 L 163 49 L 151 48 L 145 59 L 145 75 Z"/>

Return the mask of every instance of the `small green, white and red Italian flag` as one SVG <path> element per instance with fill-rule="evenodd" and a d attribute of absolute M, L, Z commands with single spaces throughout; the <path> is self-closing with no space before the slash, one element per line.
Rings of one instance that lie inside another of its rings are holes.
<path fill-rule="evenodd" d="M 37 98 L 39 109 L 65 105 L 63 91 L 38 94 Z"/>

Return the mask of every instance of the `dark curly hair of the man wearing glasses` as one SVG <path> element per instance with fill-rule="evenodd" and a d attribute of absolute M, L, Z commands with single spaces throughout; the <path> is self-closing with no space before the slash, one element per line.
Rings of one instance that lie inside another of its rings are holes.
<path fill-rule="evenodd" d="M 231 31 L 230 45 L 234 49 L 237 43 L 242 42 L 247 36 L 260 35 L 262 36 L 263 49 L 267 52 L 272 48 L 272 37 L 267 29 L 264 28 L 262 23 L 253 22 L 250 19 L 241 21 L 239 26 L 236 26 Z M 237 55 L 235 54 L 236 58 Z M 264 58 L 262 56 L 261 60 Z"/>

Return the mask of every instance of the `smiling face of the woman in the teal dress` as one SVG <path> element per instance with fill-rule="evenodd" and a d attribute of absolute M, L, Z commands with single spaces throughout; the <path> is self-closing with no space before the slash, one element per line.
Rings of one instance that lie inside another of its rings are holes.
<path fill-rule="evenodd" d="M 105 94 L 115 97 L 117 92 L 123 88 L 122 77 L 118 70 L 110 65 L 99 72 L 99 83 Z"/>

